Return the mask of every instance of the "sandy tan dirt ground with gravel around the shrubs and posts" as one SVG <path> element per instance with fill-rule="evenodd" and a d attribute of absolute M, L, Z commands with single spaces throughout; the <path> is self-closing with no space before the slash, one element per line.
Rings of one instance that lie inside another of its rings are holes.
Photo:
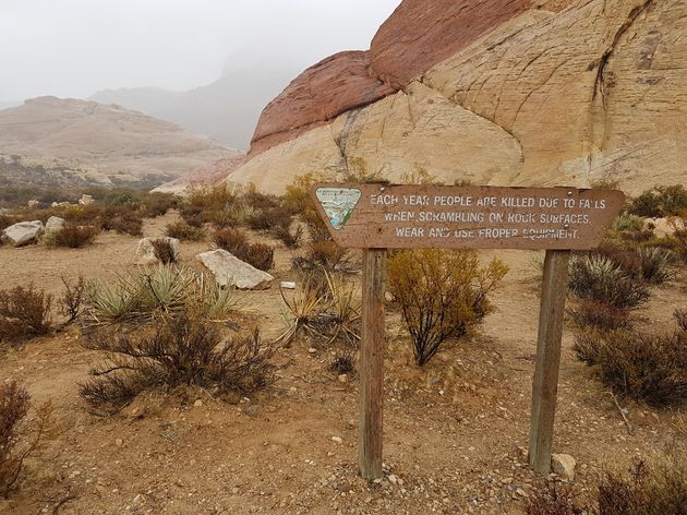
<path fill-rule="evenodd" d="M 174 215 L 146 223 L 157 236 Z M 101 235 L 81 250 L 0 247 L 2 288 L 29 282 L 59 296 L 61 276 L 111 279 L 133 266 L 136 238 Z M 182 259 L 209 243 L 182 243 Z M 0 501 L 7 514 L 521 514 L 534 476 L 527 466 L 539 311 L 535 252 L 501 251 L 510 267 L 482 334 L 412 364 L 398 314 L 387 315 L 385 479 L 357 476 L 355 378 L 328 371 L 329 350 L 281 349 L 278 381 L 237 405 L 195 392 L 141 396 L 120 415 L 89 412 L 79 397 L 98 354 L 76 330 L 29 342 L 0 357 L 0 380 L 22 381 L 34 403 L 51 400 L 61 432 L 28 460 L 21 488 Z M 274 275 L 292 278 L 291 251 L 277 250 Z M 360 280 L 359 277 L 355 280 Z M 640 311 L 655 328 L 687 308 L 687 274 L 652 289 Z M 249 292 L 244 311 L 265 338 L 286 327 L 276 287 Z M 566 331 L 554 452 L 577 459 L 589 491 L 601 470 L 685 440 L 686 418 L 613 397 L 577 361 Z M 201 400 L 200 403 L 197 400 Z M 333 440 L 333 438 L 335 438 Z"/>

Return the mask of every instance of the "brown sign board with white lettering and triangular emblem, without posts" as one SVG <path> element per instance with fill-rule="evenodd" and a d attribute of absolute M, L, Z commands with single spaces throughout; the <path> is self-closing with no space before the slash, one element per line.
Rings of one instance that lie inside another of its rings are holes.
<path fill-rule="evenodd" d="M 576 188 L 318 183 L 311 193 L 350 249 L 593 249 L 625 201 Z"/>

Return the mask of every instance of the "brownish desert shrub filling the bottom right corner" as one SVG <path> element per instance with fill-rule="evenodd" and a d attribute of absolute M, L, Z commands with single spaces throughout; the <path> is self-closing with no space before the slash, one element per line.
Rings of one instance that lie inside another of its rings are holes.
<path fill-rule="evenodd" d="M 599 515 L 684 515 L 687 462 L 683 453 L 638 460 L 628 474 L 606 474 L 598 484 Z"/>

